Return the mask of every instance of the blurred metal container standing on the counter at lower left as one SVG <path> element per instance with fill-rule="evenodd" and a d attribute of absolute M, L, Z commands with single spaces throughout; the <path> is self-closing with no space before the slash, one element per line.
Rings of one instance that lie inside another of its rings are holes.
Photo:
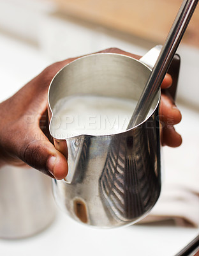
<path fill-rule="evenodd" d="M 51 179 L 33 168 L 0 170 L 0 237 L 19 239 L 40 232 L 55 217 Z"/>

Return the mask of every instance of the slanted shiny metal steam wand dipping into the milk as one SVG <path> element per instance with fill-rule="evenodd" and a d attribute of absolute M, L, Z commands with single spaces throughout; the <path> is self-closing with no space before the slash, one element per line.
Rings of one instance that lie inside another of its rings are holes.
<path fill-rule="evenodd" d="M 168 36 L 166 37 L 165 44 L 159 53 L 158 60 L 152 68 L 151 75 L 140 99 L 138 100 L 127 129 L 140 124 L 140 122 L 144 121 L 147 113 L 149 113 L 153 99 L 161 86 L 197 4 L 198 0 L 184 0 L 181 4 L 181 8 L 177 13 Z"/>

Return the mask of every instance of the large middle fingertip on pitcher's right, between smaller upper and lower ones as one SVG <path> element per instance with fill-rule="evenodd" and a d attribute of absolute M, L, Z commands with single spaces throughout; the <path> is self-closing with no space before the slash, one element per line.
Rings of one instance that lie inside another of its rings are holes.
<path fill-rule="evenodd" d="M 182 119 L 181 112 L 174 104 L 172 97 L 164 93 L 161 94 L 159 119 L 163 121 L 165 125 L 179 124 Z"/>

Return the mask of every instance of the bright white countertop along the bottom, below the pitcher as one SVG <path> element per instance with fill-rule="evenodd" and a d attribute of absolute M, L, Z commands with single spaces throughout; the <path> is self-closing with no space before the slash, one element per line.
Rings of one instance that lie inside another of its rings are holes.
<path fill-rule="evenodd" d="M 0 240 L 1 255 L 140 255 L 172 256 L 197 230 L 136 226 L 100 230 L 85 227 L 57 212 L 54 223 L 40 234 L 20 240 Z"/>

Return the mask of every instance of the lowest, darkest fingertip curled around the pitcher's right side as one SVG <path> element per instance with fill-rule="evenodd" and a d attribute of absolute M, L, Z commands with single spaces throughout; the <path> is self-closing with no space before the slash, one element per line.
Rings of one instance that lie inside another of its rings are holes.
<path fill-rule="evenodd" d="M 167 125 L 163 128 L 163 145 L 169 147 L 179 147 L 182 144 L 181 135 L 175 131 L 173 125 Z"/>

